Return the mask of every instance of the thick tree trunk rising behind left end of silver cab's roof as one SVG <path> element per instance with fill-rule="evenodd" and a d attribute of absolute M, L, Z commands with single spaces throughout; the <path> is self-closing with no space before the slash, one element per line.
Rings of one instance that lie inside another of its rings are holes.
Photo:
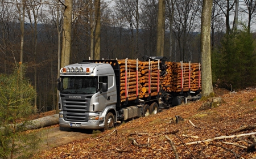
<path fill-rule="evenodd" d="M 63 41 L 61 50 L 61 67 L 69 65 L 71 53 L 72 0 L 65 1 L 63 15 Z"/>

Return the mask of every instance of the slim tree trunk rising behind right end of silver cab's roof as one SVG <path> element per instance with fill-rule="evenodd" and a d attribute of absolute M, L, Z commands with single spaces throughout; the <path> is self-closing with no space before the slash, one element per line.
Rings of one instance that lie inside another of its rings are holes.
<path fill-rule="evenodd" d="M 101 1 L 95 1 L 95 48 L 94 59 L 100 59 L 101 53 Z"/>

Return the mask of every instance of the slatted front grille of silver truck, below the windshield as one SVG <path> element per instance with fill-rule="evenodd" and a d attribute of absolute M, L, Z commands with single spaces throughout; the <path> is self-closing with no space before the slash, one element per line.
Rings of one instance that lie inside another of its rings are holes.
<path fill-rule="evenodd" d="M 69 94 L 61 94 L 61 103 L 65 121 L 71 122 L 88 122 L 90 98 L 81 96 L 81 98 L 69 98 Z"/>

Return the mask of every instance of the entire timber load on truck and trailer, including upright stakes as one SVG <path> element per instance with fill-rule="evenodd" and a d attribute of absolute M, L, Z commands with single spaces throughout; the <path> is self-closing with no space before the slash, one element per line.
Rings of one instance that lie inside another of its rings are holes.
<path fill-rule="evenodd" d="M 137 59 L 119 59 L 117 62 L 120 70 L 121 102 L 154 97 L 160 95 L 160 90 L 201 90 L 200 63 L 144 62 Z M 162 65 L 164 70 L 160 69 Z"/>

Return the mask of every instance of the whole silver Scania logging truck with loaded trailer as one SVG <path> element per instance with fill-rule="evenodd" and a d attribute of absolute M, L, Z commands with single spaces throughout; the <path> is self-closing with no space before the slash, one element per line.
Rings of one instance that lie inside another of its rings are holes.
<path fill-rule="evenodd" d="M 84 60 L 60 69 L 59 125 L 105 129 L 201 98 L 200 63 Z"/>

